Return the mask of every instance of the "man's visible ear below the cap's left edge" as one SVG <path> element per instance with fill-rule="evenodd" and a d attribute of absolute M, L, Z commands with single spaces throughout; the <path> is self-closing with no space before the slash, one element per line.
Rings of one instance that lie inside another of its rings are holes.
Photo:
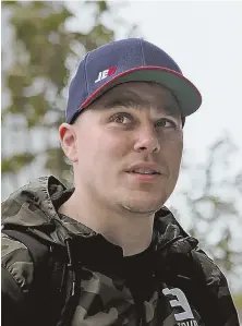
<path fill-rule="evenodd" d="M 62 123 L 59 128 L 59 138 L 62 149 L 70 161 L 77 161 L 77 143 L 74 125 Z"/>

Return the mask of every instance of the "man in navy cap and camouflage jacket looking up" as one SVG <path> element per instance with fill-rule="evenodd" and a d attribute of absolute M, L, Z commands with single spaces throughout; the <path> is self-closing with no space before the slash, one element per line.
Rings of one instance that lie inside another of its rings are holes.
<path fill-rule="evenodd" d="M 201 102 L 178 64 L 143 39 L 86 55 L 59 129 L 74 189 L 40 178 L 3 203 L 3 325 L 239 325 L 225 276 L 164 206 L 185 118 Z"/>

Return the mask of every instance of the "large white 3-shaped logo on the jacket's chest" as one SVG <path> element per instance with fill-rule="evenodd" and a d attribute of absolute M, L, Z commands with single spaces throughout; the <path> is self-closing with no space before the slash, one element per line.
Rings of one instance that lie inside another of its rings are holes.
<path fill-rule="evenodd" d="M 184 312 L 182 313 L 178 313 L 178 314 L 174 314 L 174 318 L 176 321 L 180 322 L 180 321 L 184 321 L 184 319 L 190 319 L 190 318 L 194 318 L 193 316 L 193 313 L 192 313 L 192 310 L 189 305 L 189 301 L 187 299 L 185 298 L 185 294 L 182 292 L 182 290 L 178 289 L 178 288 L 174 288 L 174 289 L 164 289 L 162 290 L 164 294 L 165 295 L 174 295 L 177 297 L 176 300 L 170 300 L 170 305 L 173 307 L 173 306 L 181 306 Z"/>

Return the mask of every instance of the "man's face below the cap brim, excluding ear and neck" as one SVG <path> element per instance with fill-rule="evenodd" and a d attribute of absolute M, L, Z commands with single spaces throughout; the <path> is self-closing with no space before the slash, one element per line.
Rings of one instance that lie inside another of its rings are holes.
<path fill-rule="evenodd" d="M 86 108 L 73 128 L 77 191 L 97 205 L 133 213 L 155 213 L 165 204 L 183 147 L 181 114 L 168 89 L 121 84 Z"/>

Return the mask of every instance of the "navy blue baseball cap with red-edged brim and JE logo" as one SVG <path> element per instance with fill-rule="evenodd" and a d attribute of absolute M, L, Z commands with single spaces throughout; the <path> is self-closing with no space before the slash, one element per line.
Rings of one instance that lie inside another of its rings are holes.
<path fill-rule="evenodd" d="M 182 118 L 195 112 L 202 96 L 174 60 L 143 38 L 126 38 L 104 45 L 80 62 L 69 88 L 66 122 L 108 89 L 128 82 L 154 82 L 176 97 Z"/>

